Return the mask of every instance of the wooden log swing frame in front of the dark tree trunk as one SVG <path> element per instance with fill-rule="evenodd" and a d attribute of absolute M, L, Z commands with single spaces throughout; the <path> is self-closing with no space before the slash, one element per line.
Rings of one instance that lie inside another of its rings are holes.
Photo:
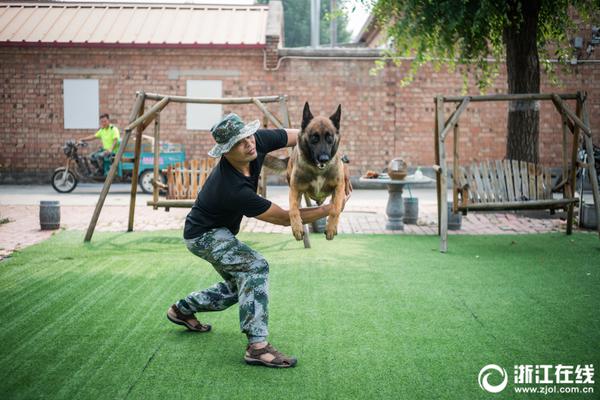
<path fill-rule="evenodd" d="M 485 95 L 485 96 L 437 96 L 435 97 L 435 163 L 434 169 L 436 170 L 436 186 L 437 186 L 437 203 L 438 203 L 438 234 L 440 235 L 440 251 L 445 253 L 448 250 L 448 166 L 446 164 L 446 149 L 445 140 L 450 131 L 453 131 L 453 160 L 452 160 L 452 189 L 453 189 L 453 212 L 463 211 L 466 212 L 468 207 L 461 209 L 458 206 L 458 195 L 461 190 L 459 183 L 459 151 L 458 151 L 458 138 L 459 138 L 459 125 L 458 119 L 460 115 L 466 110 L 470 102 L 482 102 L 482 101 L 537 101 L 545 100 L 552 101 L 556 110 L 561 115 L 562 119 L 562 169 L 563 176 L 566 178 L 561 182 L 563 185 L 563 196 L 564 199 L 552 200 L 527 200 L 522 201 L 522 204 L 516 204 L 515 202 L 492 202 L 487 204 L 477 204 L 477 210 L 479 211 L 492 211 L 492 210 L 516 210 L 516 209 L 555 209 L 555 208 L 566 208 L 567 209 L 567 235 L 572 233 L 573 227 L 573 213 L 574 213 L 574 199 L 575 199 L 575 188 L 576 188 L 576 173 L 580 166 L 577 161 L 577 151 L 579 149 L 579 141 L 582 139 L 585 144 L 585 148 L 588 154 L 594 154 L 592 146 L 592 131 L 590 128 L 589 114 L 586 108 L 585 100 L 587 94 L 585 92 L 567 93 L 567 94 L 498 94 L 498 95 Z M 566 100 L 576 101 L 576 110 L 573 112 L 566 104 Z M 445 103 L 458 103 L 456 109 L 446 120 L 444 118 L 444 104 Z M 572 148 L 570 163 L 568 161 L 568 134 L 572 134 Z M 583 167 L 589 171 L 589 177 L 592 182 L 592 193 L 594 196 L 594 202 L 596 206 L 596 217 L 598 222 L 598 233 L 600 235 L 600 194 L 598 192 L 598 180 L 597 171 L 594 167 L 593 157 L 592 160 L 588 160 Z M 464 192 L 463 192 L 464 193 Z M 473 210 L 475 211 L 475 210 Z"/>

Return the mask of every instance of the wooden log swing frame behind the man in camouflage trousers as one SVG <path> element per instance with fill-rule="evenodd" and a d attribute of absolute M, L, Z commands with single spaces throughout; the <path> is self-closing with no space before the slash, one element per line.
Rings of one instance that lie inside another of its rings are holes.
<path fill-rule="evenodd" d="M 147 111 L 145 111 L 146 100 L 155 101 L 155 103 Z M 88 225 L 88 229 L 84 238 L 84 242 L 92 240 L 100 212 L 104 206 L 104 201 L 110 190 L 110 186 L 117 172 L 117 165 L 123 157 L 123 152 L 129 139 L 131 138 L 132 132 L 135 130 L 135 153 L 133 158 L 133 173 L 131 176 L 131 196 L 129 201 L 129 222 L 127 225 L 127 232 L 133 231 L 134 217 L 135 217 L 135 201 L 137 195 L 137 184 L 141 158 L 141 143 L 142 133 L 144 130 L 154 122 L 154 177 L 159 176 L 159 153 L 160 153 L 160 113 L 170 103 L 185 103 L 185 104 L 254 104 L 264 115 L 268 121 L 270 121 L 275 127 L 280 129 L 290 128 L 290 118 L 287 108 L 287 96 L 259 96 L 259 97 L 237 97 L 237 98 L 197 98 L 187 96 L 170 96 L 156 93 L 145 93 L 138 91 L 136 93 L 136 100 L 129 115 L 129 124 L 125 127 L 125 135 L 123 141 L 119 146 L 119 150 L 115 156 L 114 162 L 112 163 L 108 175 L 104 181 L 104 186 L 100 192 L 100 197 L 96 203 L 96 208 L 92 214 L 92 219 Z M 279 103 L 279 112 L 281 118 L 277 118 L 265 104 L 267 103 Z M 171 207 L 191 208 L 194 204 L 194 200 L 161 200 L 159 199 L 159 190 L 161 189 L 160 183 L 153 182 L 153 193 L 152 200 L 147 202 L 148 206 L 152 206 L 155 210 L 159 207 L 169 209 Z M 259 193 L 262 196 L 266 196 L 266 173 L 263 170 L 261 174 L 261 181 L 259 183 Z M 310 206 L 308 198 L 305 199 L 307 205 Z M 310 247 L 310 239 L 308 237 L 308 227 L 304 226 L 304 247 Z"/>

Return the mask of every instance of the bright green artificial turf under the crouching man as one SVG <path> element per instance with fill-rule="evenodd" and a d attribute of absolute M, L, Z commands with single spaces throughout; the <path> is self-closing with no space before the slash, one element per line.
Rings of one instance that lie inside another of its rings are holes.
<path fill-rule="evenodd" d="M 492 395 L 477 375 L 600 366 L 595 235 L 451 236 L 447 254 L 437 237 L 240 235 L 270 262 L 292 370 L 243 363 L 237 306 L 202 314 L 208 334 L 167 321 L 219 279 L 180 235 L 63 232 L 0 262 L 0 398 L 567 398 Z"/>

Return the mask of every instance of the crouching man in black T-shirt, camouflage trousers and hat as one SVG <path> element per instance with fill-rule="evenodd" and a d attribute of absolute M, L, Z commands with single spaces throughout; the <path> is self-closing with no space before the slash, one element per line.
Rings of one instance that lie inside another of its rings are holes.
<path fill-rule="evenodd" d="M 289 213 L 256 193 L 265 155 L 295 146 L 298 129 L 258 129 L 259 121 L 244 124 L 236 114 L 217 123 L 211 133 L 217 144 L 208 153 L 221 160 L 210 174 L 185 221 L 187 248 L 208 261 L 223 281 L 177 301 L 167 318 L 191 331 L 208 332 L 194 313 L 221 311 L 239 303 L 241 331 L 248 338 L 244 360 L 248 364 L 287 368 L 296 365 L 267 342 L 269 264 L 235 235 L 242 216 L 277 225 L 290 225 Z M 346 177 L 348 175 L 346 174 Z M 347 180 L 347 195 L 351 186 Z M 328 215 L 330 205 L 301 209 L 304 223 Z"/>

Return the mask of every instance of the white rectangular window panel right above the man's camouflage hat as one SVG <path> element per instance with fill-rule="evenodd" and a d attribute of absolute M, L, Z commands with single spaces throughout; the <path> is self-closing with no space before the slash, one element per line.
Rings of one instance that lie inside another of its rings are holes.
<path fill-rule="evenodd" d="M 221 81 L 187 81 L 186 96 L 203 98 L 222 97 Z M 186 128 L 205 130 L 219 122 L 223 116 L 221 104 L 187 104 Z"/>

